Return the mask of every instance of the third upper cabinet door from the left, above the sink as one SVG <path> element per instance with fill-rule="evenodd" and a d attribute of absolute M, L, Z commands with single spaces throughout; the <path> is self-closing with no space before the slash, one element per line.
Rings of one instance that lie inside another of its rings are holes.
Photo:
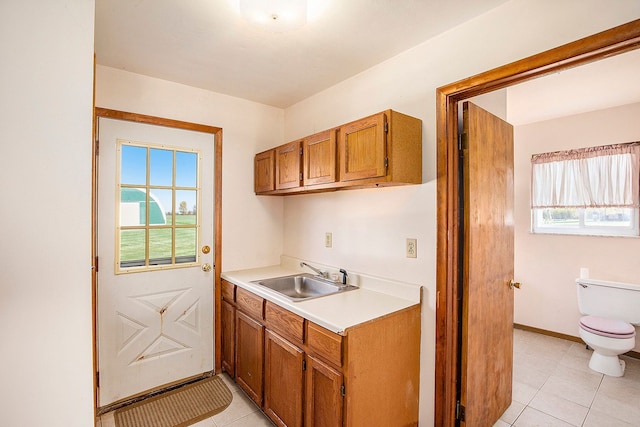
<path fill-rule="evenodd" d="M 302 145 L 304 185 L 336 182 L 336 131 L 309 136 Z"/>

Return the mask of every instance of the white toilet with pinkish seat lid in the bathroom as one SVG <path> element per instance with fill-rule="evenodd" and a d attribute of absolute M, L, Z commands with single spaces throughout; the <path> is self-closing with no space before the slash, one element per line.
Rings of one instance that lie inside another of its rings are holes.
<path fill-rule="evenodd" d="M 589 367 L 612 377 L 624 375 L 618 355 L 636 345 L 640 325 L 640 285 L 576 279 L 580 338 L 593 349 Z"/>

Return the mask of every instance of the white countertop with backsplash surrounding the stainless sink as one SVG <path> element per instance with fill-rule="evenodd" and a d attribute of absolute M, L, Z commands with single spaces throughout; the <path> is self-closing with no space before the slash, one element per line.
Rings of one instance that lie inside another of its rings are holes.
<path fill-rule="evenodd" d="M 280 265 L 227 271 L 221 276 L 236 286 L 247 289 L 338 334 L 344 334 L 346 329 L 360 323 L 420 304 L 422 288 L 420 285 L 394 282 L 352 272 L 349 272 L 349 283 L 357 284 L 359 289 L 300 302 L 293 302 L 277 292 L 251 283 L 254 280 L 309 272 L 299 267 L 300 261 L 283 256 Z M 311 261 L 309 264 L 325 271 L 337 271 Z"/>

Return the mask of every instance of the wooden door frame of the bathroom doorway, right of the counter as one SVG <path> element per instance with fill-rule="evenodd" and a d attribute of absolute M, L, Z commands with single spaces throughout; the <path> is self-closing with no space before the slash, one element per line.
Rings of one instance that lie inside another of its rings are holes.
<path fill-rule="evenodd" d="M 458 374 L 458 102 L 640 47 L 640 19 L 436 89 L 436 426 L 455 425 Z"/>

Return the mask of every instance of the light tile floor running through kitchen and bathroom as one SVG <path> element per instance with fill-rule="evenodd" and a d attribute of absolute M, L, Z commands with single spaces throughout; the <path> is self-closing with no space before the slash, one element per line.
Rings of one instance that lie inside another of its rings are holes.
<path fill-rule="evenodd" d="M 584 344 L 515 329 L 513 403 L 494 427 L 640 426 L 640 360 L 622 356 L 622 378 L 589 369 Z M 231 405 L 195 427 L 273 427 L 271 421 L 224 374 Z M 113 414 L 98 427 L 115 427 Z"/>

